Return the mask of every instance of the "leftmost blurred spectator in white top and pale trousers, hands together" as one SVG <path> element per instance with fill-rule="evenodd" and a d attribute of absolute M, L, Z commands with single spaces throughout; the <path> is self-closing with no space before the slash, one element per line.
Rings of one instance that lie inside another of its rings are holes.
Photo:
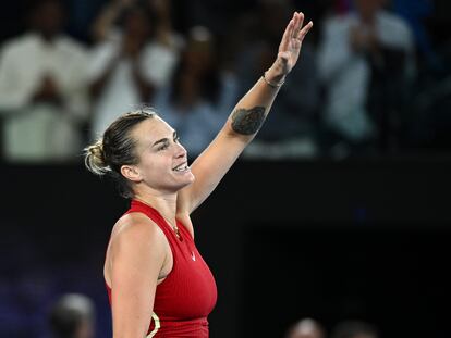
<path fill-rule="evenodd" d="M 84 47 L 62 33 L 59 0 L 36 1 L 32 29 L 0 55 L 3 152 L 9 162 L 75 160 L 88 112 Z"/>

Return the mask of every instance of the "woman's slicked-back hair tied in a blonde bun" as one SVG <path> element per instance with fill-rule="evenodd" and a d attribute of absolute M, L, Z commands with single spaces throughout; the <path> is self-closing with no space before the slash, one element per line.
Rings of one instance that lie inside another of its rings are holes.
<path fill-rule="evenodd" d="M 136 140 L 131 133 L 137 124 L 156 115 L 148 108 L 125 113 L 110 124 L 102 137 L 84 149 L 87 170 L 96 175 L 113 178 L 119 184 L 120 193 L 125 198 L 132 198 L 133 190 L 121 174 L 121 166 L 138 163 L 135 153 Z"/>

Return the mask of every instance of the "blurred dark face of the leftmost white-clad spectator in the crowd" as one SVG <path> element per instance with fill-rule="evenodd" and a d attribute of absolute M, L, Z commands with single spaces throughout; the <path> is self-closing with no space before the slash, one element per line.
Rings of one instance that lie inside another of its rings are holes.
<path fill-rule="evenodd" d="M 62 4 L 56 0 L 41 1 L 33 13 L 33 26 L 46 38 L 61 32 L 64 13 Z"/>

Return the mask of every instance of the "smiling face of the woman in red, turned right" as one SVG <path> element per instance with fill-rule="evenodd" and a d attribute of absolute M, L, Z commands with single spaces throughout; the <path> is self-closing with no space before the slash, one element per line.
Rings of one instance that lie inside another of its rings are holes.
<path fill-rule="evenodd" d="M 136 140 L 136 165 L 123 165 L 122 174 L 136 184 L 151 190 L 170 193 L 194 181 L 187 165 L 187 153 L 179 142 L 173 128 L 156 116 L 141 122 L 132 132 Z"/>

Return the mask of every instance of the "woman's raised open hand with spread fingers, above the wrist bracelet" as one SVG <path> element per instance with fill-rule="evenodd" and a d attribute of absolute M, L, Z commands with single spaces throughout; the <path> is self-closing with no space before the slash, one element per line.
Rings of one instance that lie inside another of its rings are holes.
<path fill-rule="evenodd" d="M 294 67 L 300 57 L 302 42 L 313 26 L 309 22 L 303 27 L 304 14 L 294 12 L 293 18 L 287 25 L 283 33 L 282 40 L 279 45 L 278 66 L 280 66 L 282 74 L 288 74 Z"/>

